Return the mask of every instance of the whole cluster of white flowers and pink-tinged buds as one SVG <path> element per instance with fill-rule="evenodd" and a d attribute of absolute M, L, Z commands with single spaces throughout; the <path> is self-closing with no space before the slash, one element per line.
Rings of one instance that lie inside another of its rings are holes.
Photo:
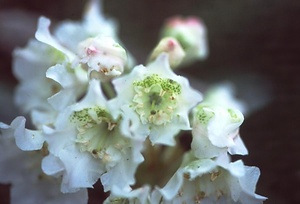
<path fill-rule="evenodd" d="M 105 203 L 262 203 L 259 169 L 229 156 L 248 153 L 244 105 L 226 86 L 203 97 L 174 72 L 207 56 L 204 24 L 169 19 L 135 66 L 99 6 L 91 0 L 81 22 L 53 32 L 40 17 L 35 39 L 14 51 L 15 101 L 33 127 L 22 116 L 0 123 L 0 182 L 12 183 L 12 203 L 87 203 L 98 180 Z"/>

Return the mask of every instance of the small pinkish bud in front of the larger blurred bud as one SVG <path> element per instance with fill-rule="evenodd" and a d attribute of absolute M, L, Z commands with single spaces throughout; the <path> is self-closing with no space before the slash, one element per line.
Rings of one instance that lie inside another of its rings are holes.
<path fill-rule="evenodd" d="M 180 43 L 173 37 L 166 37 L 161 39 L 158 45 L 154 48 L 149 61 L 154 61 L 163 52 L 169 54 L 169 64 L 173 69 L 181 63 L 185 56 L 185 52 Z"/>

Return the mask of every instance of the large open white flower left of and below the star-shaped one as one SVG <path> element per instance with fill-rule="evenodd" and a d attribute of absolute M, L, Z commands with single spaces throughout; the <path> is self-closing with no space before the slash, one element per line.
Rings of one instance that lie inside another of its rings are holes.
<path fill-rule="evenodd" d="M 110 111 L 99 82 L 92 80 L 81 102 L 63 111 L 54 128 L 44 127 L 50 155 L 43 170 L 63 175 L 63 192 L 92 187 L 100 177 L 105 191 L 134 184 L 142 143 L 123 137 Z"/>

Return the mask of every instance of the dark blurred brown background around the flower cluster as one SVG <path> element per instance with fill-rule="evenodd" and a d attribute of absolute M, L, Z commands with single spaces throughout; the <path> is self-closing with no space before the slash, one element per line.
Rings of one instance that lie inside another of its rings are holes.
<path fill-rule="evenodd" d="M 33 37 L 37 18 L 79 20 L 83 0 L 0 0 L 0 121 L 17 116 L 12 93 L 11 52 Z M 249 155 L 258 166 L 257 193 L 266 203 L 300 203 L 300 2 L 297 0 L 104 0 L 104 13 L 119 23 L 120 38 L 138 63 L 158 42 L 164 20 L 195 15 L 208 30 L 209 56 L 181 70 L 194 86 L 224 80 L 254 111 L 241 127 Z M 297 23 L 298 22 L 298 23 Z M 201 85 L 202 86 L 202 85 Z M 91 190 L 97 203 L 99 184 Z M 1 203 L 9 203 L 1 185 Z"/>

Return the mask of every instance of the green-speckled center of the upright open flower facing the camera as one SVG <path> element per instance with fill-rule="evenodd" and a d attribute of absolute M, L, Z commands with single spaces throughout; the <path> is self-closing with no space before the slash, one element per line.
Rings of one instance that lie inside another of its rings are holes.
<path fill-rule="evenodd" d="M 181 93 L 177 82 L 153 74 L 133 85 L 136 92 L 133 107 L 143 124 L 162 125 L 172 120 Z"/>

